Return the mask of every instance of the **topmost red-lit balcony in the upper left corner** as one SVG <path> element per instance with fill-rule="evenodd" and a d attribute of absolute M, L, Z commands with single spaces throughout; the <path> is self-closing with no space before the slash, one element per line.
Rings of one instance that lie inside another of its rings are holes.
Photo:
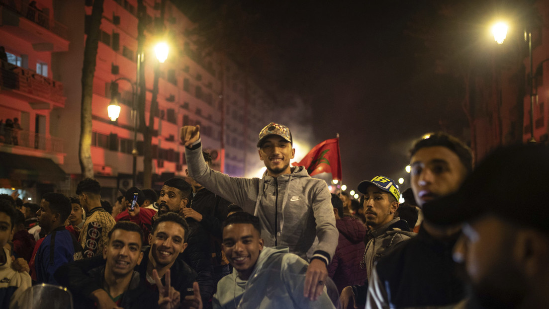
<path fill-rule="evenodd" d="M 38 52 L 69 50 L 67 27 L 21 0 L 0 0 L 0 25 Z"/>

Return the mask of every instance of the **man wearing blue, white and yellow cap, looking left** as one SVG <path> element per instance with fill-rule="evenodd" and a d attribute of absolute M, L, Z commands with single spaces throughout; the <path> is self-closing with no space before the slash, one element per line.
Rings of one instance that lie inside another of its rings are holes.
<path fill-rule="evenodd" d="M 340 301 L 343 308 L 347 308 L 351 299 L 355 304 L 366 304 L 368 278 L 372 274 L 374 262 L 393 248 L 393 245 L 415 235 L 410 232 L 406 221 L 395 217 L 399 208 L 400 191 L 393 179 L 376 176 L 371 181 L 362 181 L 358 184 L 358 192 L 363 194 L 360 204 L 364 207 L 366 224 L 370 227 L 364 256 L 360 262 L 360 267 L 366 268 L 367 277 L 364 285 L 346 286 L 341 291 Z"/>

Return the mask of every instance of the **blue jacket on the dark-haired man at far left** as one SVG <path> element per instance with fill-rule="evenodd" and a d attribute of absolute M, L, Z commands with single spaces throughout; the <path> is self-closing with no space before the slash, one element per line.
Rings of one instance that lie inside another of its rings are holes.
<path fill-rule="evenodd" d="M 53 278 L 55 270 L 65 263 L 81 260 L 82 257 L 83 250 L 76 238 L 64 226 L 54 229 L 46 235 L 36 252 L 38 283 L 59 285 Z"/>

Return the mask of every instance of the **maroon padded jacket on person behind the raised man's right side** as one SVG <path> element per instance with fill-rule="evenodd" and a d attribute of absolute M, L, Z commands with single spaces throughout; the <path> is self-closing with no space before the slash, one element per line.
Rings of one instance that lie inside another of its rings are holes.
<path fill-rule="evenodd" d="M 366 228 L 362 221 L 354 217 L 336 220 L 335 227 L 339 231 L 339 240 L 332 263 L 328 266 L 328 275 L 341 294 L 345 286 L 361 284 L 366 278 L 366 269 L 360 268 Z"/>

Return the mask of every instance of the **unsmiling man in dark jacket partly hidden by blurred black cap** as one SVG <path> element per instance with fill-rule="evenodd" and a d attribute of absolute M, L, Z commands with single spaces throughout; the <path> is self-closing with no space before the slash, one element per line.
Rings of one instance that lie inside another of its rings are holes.
<path fill-rule="evenodd" d="M 412 192 L 419 207 L 454 193 L 473 170 L 470 149 L 457 138 L 434 133 L 410 151 Z M 455 273 L 452 247 L 460 225 L 425 219 L 416 237 L 380 259 L 369 280 L 367 308 L 423 308 L 457 304 L 465 289 Z"/>

